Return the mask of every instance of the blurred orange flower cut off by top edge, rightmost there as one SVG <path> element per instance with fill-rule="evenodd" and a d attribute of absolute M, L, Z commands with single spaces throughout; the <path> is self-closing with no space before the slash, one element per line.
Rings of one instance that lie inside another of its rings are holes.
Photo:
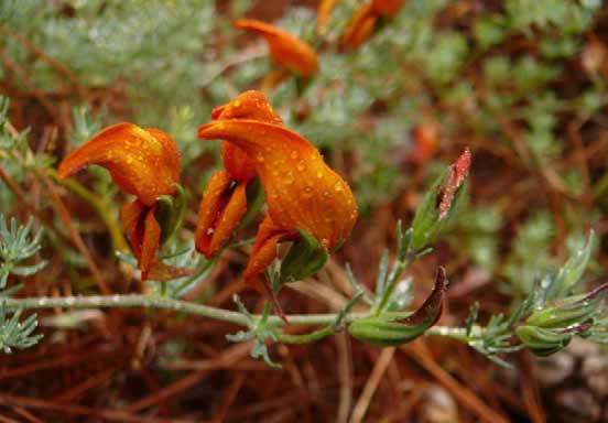
<path fill-rule="evenodd" d="M 348 22 L 340 45 L 345 48 L 357 48 L 373 34 L 380 18 L 394 18 L 402 6 L 403 0 L 372 0 L 361 6 Z"/>

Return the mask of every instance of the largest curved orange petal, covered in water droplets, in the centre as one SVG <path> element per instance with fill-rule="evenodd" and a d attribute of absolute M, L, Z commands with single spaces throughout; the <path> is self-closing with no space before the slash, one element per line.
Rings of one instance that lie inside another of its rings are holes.
<path fill-rule="evenodd" d="M 296 132 L 256 120 L 225 120 L 203 124 L 198 137 L 232 142 L 253 159 L 278 227 L 303 229 L 326 248 L 350 235 L 357 219 L 350 187 Z"/>

